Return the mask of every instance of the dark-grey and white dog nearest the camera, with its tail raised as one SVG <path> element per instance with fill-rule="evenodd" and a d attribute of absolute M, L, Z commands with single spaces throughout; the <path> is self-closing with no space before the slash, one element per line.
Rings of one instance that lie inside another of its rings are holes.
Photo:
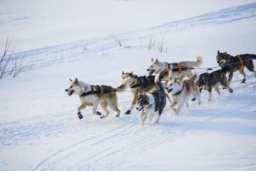
<path fill-rule="evenodd" d="M 145 119 L 148 114 L 150 114 L 148 121 L 151 122 L 152 118 L 156 115 L 157 120 L 154 122 L 155 124 L 159 123 L 160 116 L 163 112 L 163 108 L 166 105 L 166 96 L 163 83 L 159 81 L 159 74 L 155 77 L 155 83 L 159 90 L 155 90 L 153 93 L 144 93 L 143 95 L 140 94 L 138 99 L 138 106 L 136 107 L 137 110 L 141 111 L 139 120 L 140 125 L 143 126 Z M 144 118 L 143 118 L 144 116 Z"/>

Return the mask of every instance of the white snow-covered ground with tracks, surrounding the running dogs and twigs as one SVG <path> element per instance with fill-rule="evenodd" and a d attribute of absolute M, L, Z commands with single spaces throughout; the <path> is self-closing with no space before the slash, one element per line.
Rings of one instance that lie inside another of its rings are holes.
<path fill-rule="evenodd" d="M 128 92 L 118 93 L 119 118 L 88 107 L 79 120 L 78 97 L 64 91 L 76 77 L 118 87 L 122 71 L 147 75 L 151 58 L 198 54 L 207 68 L 218 66 L 217 50 L 256 54 L 255 28 L 255 0 L 1 0 L 0 47 L 15 34 L 34 66 L 0 79 L 0 170 L 256 170 L 256 78 L 247 70 L 246 84 L 234 74 L 233 94 L 207 101 L 203 91 L 202 104 L 190 101 L 178 116 L 167 102 L 160 123 L 143 127 L 138 111 L 124 114 Z M 152 32 L 167 53 L 147 49 Z"/>

